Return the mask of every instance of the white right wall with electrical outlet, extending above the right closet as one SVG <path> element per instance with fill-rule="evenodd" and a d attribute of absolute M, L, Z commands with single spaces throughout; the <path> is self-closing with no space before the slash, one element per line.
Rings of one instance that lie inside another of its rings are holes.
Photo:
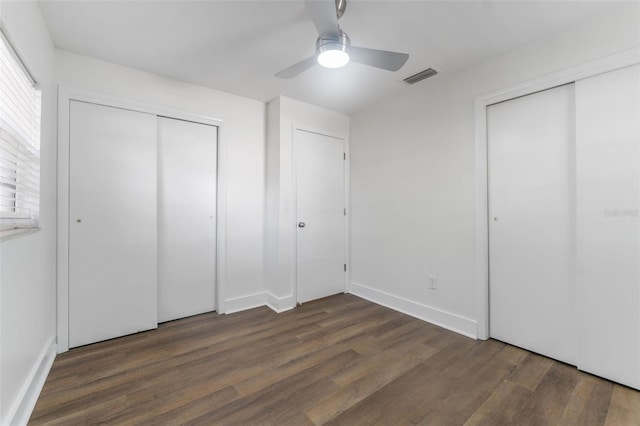
<path fill-rule="evenodd" d="M 627 3 L 354 114 L 350 290 L 475 336 L 474 98 L 638 46 L 638 18 Z"/>

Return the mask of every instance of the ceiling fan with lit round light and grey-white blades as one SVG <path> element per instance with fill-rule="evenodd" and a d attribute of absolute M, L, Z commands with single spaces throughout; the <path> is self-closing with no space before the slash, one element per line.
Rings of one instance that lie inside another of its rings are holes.
<path fill-rule="evenodd" d="M 338 25 L 338 19 L 347 7 L 347 0 L 305 0 L 305 7 L 319 34 L 316 54 L 285 68 L 276 77 L 293 78 L 316 63 L 327 68 L 340 68 L 350 60 L 388 71 L 398 71 L 409 59 L 406 53 L 352 46 L 351 39 Z"/>

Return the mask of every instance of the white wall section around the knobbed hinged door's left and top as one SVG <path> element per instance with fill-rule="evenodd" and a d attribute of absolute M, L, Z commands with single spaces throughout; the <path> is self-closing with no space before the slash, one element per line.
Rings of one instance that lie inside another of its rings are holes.
<path fill-rule="evenodd" d="M 349 147 L 349 116 L 280 96 L 267 106 L 267 300 L 276 310 L 295 306 L 293 132 L 294 126 L 345 140 Z M 274 130 L 277 129 L 277 130 Z"/>

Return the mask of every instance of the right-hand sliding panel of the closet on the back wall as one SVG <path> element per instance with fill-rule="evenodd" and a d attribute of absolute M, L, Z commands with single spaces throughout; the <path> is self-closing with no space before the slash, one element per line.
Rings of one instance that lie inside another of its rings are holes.
<path fill-rule="evenodd" d="M 216 126 L 158 118 L 158 320 L 216 308 Z"/>

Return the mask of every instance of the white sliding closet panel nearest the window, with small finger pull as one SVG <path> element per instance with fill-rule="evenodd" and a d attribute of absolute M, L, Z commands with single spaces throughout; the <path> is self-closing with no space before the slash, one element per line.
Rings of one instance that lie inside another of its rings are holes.
<path fill-rule="evenodd" d="M 70 103 L 69 346 L 157 326 L 156 116 Z"/>

